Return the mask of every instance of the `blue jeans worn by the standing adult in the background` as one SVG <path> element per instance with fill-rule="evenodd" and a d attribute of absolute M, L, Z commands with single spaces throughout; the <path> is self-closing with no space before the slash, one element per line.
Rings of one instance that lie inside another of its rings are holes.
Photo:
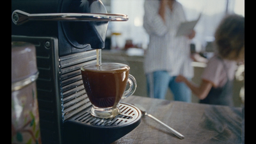
<path fill-rule="evenodd" d="M 165 99 L 169 87 L 174 100 L 191 102 L 191 90 L 185 83 L 177 83 L 176 76 L 170 76 L 165 70 L 152 72 L 146 76 L 148 97 Z"/>

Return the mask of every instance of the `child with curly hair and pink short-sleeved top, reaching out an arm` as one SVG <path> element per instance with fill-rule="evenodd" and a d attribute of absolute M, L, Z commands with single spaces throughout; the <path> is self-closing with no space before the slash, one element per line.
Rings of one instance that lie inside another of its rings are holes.
<path fill-rule="evenodd" d="M 184 76 L 177 76 L 175 81 L 186 83 L 200 103 L 234 106 L 233 79 L 237 63 L 244 61 L 244 17 L 227 15 L 214 36 L 216 52 L 204 69 L 200 86 Z"/>

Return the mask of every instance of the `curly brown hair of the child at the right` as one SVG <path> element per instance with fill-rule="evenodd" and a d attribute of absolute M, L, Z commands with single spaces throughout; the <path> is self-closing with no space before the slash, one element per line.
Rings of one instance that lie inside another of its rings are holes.
<path fill-rule="evenodd" d="M 221 20 L 214 36 L 218 54 L 224 59 L 236 59 L 244 47 L 244 17 L 237 14 L 227 15 Z M 233 51 L 236 58 L 229 57 Z"/>

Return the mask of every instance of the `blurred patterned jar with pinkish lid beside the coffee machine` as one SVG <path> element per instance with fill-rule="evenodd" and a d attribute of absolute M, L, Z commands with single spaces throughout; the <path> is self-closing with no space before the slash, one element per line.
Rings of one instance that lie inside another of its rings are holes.
<path fill-rule="evenodd" d="M 40 144 L 35 45 L 12 42 L 12 143 Z"/>

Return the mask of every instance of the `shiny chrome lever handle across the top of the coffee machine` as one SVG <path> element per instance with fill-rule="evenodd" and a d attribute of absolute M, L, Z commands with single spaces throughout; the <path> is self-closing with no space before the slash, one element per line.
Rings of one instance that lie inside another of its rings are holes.
<path fill-rule="evenodd" d="M 59 20 L 59 21 L 127 21 L 128 15 L 113 13 L 26 13 L 15 10 L 12 21 L 19 26 L 33 20 Z"/>

